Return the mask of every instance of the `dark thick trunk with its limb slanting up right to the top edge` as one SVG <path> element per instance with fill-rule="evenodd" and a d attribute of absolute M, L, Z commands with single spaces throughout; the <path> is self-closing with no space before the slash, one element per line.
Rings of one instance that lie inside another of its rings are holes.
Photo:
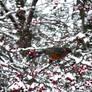
<path fill-rule="evenodd" d="M 19 34 L 20 34 L 19 46 L 22 46 L 24 48 L 31 46 L 31 40 L 33 38 L 33 35 L 32 35 L 32 31 L 30 31 L 29 28 L 30 28 L 30 22 L 32 21 L 33 14 L 34 14 L 34 11 L 35 11 L 34 7 L 36 6 L 37 1 L 38 0 L 33 0 L 32 5 L 31 5 L 32 8 L 30 9 L 29 15 L 26 19 L 27 25 L 24 27 L 23 31 L 19 31 Z M 26 38 L 28 38 L 28 41 L 26 41 Z M 25 56 L 24 53 L 22 53 L 22 55 Z"/>

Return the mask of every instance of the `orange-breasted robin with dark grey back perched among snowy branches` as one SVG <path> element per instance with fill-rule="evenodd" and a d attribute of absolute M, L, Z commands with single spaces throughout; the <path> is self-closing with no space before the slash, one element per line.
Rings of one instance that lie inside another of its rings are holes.
<path fill-rule="evenodd" d="M 70 52 L 71 52 L 70 48 L 51 47 L 51 48 L 47 48 L 47 49 L 42 50 L 41 52 L 39 52 L 39 54 L 45 53 L 52 60 L 59 60 L 59 59 L 63 59 Z"/>

